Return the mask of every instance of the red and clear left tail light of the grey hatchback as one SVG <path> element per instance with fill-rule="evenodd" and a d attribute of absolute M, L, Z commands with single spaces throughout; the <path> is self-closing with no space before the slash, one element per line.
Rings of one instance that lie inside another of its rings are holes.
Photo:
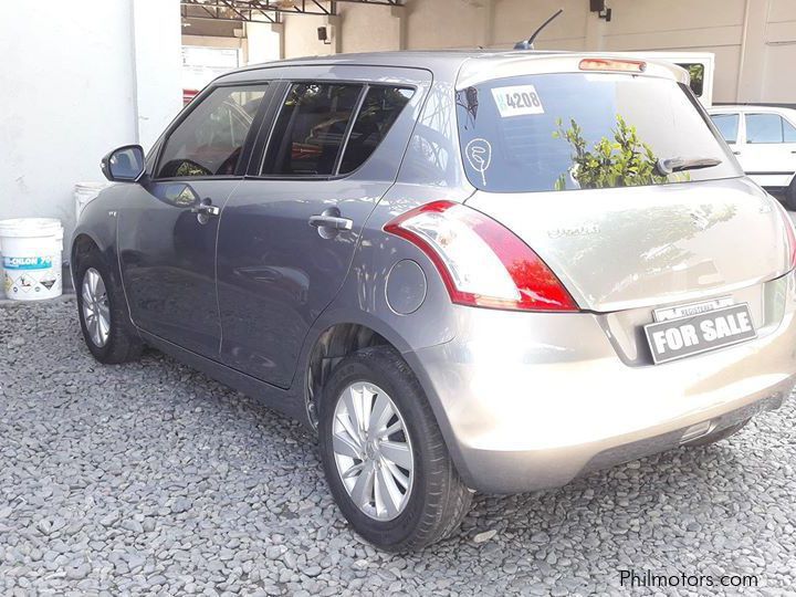
<path fill-rule="evenodd" d="M 520 311 L 578 311 L 556 275 L 522 240 L 460 203 L 434 201 L 385 226 L 434 263 L 451 301 Z"/>

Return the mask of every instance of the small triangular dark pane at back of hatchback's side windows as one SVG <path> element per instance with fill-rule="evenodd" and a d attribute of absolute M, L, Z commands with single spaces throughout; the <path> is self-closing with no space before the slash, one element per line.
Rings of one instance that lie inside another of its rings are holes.
<path fill-rule="evenodd" d="M 339 174 L 353 172 L 365 164 L 387 136 L 412 94 L 412 90 L 400 87 L 375 86 L 368 90 L 348 137 Z"/>

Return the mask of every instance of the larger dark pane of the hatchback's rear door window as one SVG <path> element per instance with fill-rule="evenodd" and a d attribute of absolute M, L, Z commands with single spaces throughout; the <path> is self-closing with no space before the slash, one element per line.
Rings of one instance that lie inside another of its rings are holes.
<path fill-rule="evenodd" d="M 362 85 L 293 84 L 276 119 L 261 174 L 333 175 L 362 91 Z"/>

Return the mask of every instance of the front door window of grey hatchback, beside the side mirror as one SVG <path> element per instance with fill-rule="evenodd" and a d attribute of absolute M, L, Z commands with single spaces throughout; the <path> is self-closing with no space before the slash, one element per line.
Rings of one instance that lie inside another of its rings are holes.
<path fill-rule="evenodd" d="M 166 140 L 157 178 L 232 176 L 265 85 L 219 87 Z"/>

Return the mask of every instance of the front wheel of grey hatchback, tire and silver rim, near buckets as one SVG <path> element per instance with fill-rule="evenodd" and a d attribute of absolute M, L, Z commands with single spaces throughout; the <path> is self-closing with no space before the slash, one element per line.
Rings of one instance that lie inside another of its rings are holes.
<path fill-rule="evenodd" d="M 143 343 L 125 306 L 122 289 L 96 250 L 77 262 L 77 312 L 83 339 L 100 363 L 135 360 Z"/>

